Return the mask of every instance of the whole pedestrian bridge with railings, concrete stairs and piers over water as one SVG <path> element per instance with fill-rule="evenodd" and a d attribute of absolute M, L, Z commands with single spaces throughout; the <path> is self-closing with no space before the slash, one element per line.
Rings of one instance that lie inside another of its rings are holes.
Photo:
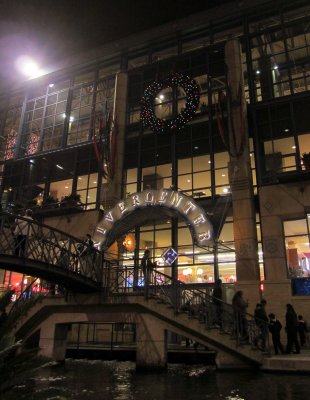
<path fill-rule="evenodd" d="M 244 338 L 244 326 L 232 306 L 221 302 L 219 310 L 206 290 L 191 288 L 157 270 L 151 271 L 145 284 L 141 271 L 112 266 L 102 252 L 87 248 L 85 243 L 57 229 L 7 213 L 0 215 L 0 222 L 0 268 L 39 277 L 75 292 L 74 296 L 69 294 L 69 300 L 55 297 L 52 290 L 45 292 L 47 303 L 40 302 L 16 327 L 16 337 L 25 340 L 40 331 L 39 347 L 45 355 L 54 356 L 59 332 L 65 343 L 65 330 L 70 324 L 109 320 L 136 324 L 141 364 L 165 363 L 166 330 L 210 346 L 225 357 L 229 354 L 247 363 L 261 364 L 262 354 L 256 346 L 260 332 L 253 316 L 247 315 L 248 336 Z M 21 237 L 18 239 L 22 235 L 23 242 Z M 84 259 L 81 246 L 86 249 Z M 90 296 L 90 292 L 94 294 Z M 27 288 L 27 296 L 22 295 L 21 300 L 32 294 L 35 292 Z M 158 326 L 161 329 L 157 332 Z M 159 336 L 154 338 L 153 331 Z M 44 343 L 47 337 L 49 344 Z M 150 343 L 156 351 L 148 360 L 150 352 L 146 349 Z M 60 351 L 63 357 L 64 349 Z"/>

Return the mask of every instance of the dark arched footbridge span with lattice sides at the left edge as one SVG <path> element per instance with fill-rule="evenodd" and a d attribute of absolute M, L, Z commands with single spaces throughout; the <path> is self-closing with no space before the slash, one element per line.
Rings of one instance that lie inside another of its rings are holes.
<path fill-rule="evenodd" d="M 74 292 L 104 286 L 104 254 L 50 226 L 0 214 L 0 268 L 39 277 Z"/>

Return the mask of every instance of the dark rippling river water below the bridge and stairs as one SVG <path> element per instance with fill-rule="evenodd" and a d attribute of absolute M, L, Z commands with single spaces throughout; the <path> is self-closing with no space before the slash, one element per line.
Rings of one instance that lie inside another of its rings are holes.
<path fill-rule="evenodd" d="M 309 393 L 306 375 L 218 372 L 183 364 L 141 373 L 132 362 L 69 359 L 40 368 L 1 400 L 306 400 Z"/>

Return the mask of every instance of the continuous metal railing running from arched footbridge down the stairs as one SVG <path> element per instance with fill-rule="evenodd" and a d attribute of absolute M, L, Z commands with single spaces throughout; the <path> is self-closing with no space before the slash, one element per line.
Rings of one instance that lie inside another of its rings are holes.
<path fill-rule="evenodd" d="M 82 249 L 82 250 L 81 250 Z M 187 313 L 206 329 L 218 329 L 237 344 L 269 351 L 268 323 L 235 311 L 231 304 L 213 302 L 209 291 L 189 287 L 153 269 L 144 276 L 133 266 L 112 266 L 104 253 L 85 242 L 32 219 L 0 214 L 0 254 L 33 259 L 84 275 L 100 283 L 106 296 L 143 295 Z M 51 294 L 55 294 L 49 290 Z"/>

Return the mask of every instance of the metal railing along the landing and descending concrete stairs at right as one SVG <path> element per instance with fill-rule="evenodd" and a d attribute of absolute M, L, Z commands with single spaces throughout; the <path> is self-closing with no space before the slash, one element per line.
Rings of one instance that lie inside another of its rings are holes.
<path fill-rule="evenodd" d="M 259 321 L 251 314 L 240 313 L 221 300 L 215 302 L 207 290 L 188 287 L 186 283 L 172 280 L 155 269 L 144 277 L 141 270 L 135 271 L 132 266 L 111 268 L 108 272 L 108 293 L 155 298 L 172 307 L 176 313 L 184 312 L 189 318 L 197 319 L 206 329 L 219 329 L 230 335 L 238 345 L 248 344 L 270 352 L 267 322 Z"/>

